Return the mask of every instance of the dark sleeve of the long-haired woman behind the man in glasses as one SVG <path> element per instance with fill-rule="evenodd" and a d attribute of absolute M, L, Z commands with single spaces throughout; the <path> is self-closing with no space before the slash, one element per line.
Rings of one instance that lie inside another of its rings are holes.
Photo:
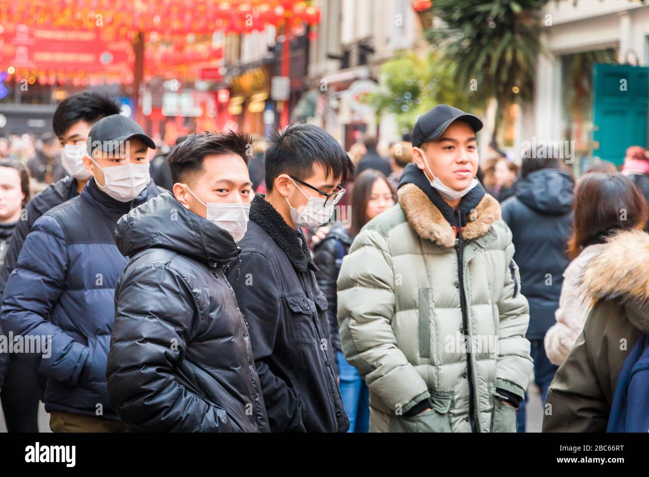
<path fill-rule="evenodd" d="M 328 304 L 329 342 L 334 347 L 334 351 L 340 351 L 336 295 L 336 280 L 340 269 L 336 266 L 336 239 L 326 238 L 317 245 L 313 253 L 313 263 L 318 267 L 318 271 L 315 272 L 318 287 L 324 293 Z"/>

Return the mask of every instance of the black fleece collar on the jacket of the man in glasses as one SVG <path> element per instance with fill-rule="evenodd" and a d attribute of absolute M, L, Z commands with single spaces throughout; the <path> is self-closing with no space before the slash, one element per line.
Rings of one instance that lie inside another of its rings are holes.
<path fill-rule="evenodd" d="M 297 236 L 298 232 L 293 230 L 286 223 L 284 217 L 266 201 L 265 195 L 256 194 L 252 199 L 250 219 L 271 236 L 295 269 L 302 273 L 308 269 L 317 271 L 318 268 L 313 263 L 306 238 L 302 236 L 300 245 L 300 239 Z"/>

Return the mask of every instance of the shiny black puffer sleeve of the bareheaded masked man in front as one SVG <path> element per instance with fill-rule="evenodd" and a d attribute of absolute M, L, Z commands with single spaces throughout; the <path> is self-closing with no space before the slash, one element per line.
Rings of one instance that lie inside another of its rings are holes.
<path fill-rule="evenodd" d="M 177 272 L 163 263 L 127 273 L 115 291 L 106 377 L 122 422 L 149 432 L 228 432 L 227 413 L 178 382 L 197 306 Z"/>

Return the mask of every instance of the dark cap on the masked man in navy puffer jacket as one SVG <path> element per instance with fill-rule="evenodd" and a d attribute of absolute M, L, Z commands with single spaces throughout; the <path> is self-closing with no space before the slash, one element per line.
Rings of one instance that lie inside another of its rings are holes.
<path fill-rule="evenodd" d="M 88 154 L 93 149 L 101 149 L 104 153 L 112 153 L 121 143 L 130 139 L 139 139 L 151 149 L 156 149 L 156 143 L 149 138 L 138 123 L 130 117 L 112 114 L 103 117 L 90 128 L 88 134 Z"/>

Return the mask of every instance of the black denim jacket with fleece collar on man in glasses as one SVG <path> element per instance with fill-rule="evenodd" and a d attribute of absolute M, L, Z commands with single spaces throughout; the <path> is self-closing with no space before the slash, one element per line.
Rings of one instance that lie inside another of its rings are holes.
<path fill-rule="evenodd" d="M 228 278 L 250 324 L 271 431 L 346 432 L 327 300 L 304 237 L 261 194 L 250 219 L 239 241 L 240 275 L 231 267 Z"/>

